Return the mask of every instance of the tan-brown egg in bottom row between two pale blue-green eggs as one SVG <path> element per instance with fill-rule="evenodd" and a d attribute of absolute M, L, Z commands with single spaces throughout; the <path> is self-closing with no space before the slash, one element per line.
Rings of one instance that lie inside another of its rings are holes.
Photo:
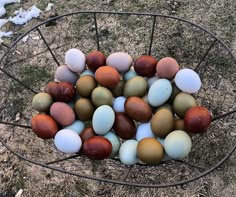
<path fill-rule="evenodd" d="M 137 153 L 146 164 L 159 164 L 164 157 L 161 143 L 155 138 L 144 138 L 138 142 Z"/>

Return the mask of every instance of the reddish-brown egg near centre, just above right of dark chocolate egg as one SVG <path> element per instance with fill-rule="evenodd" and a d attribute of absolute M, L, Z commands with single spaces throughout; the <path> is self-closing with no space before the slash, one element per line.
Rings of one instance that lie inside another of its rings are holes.
<path fill-rule="evenodd" d="M 151 107 L 139 97 L 126 99 L 125 112 L 137 122 L 148 122 L 152 117 Z"/>

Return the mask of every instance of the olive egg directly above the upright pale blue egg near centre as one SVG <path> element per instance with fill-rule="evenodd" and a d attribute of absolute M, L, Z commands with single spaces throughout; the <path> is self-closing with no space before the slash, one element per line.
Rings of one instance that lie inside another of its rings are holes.
<path fill-rule="evenodd" d="M 112 106 L 113 103 L 113 95 L 111 91 L 105 87 L 96 87 L 91 94 L 91 99 L 96 107 L 101 105 Z"/>

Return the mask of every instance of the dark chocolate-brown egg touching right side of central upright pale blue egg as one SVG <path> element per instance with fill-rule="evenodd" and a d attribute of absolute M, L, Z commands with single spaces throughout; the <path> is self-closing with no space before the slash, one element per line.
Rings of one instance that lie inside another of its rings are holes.
<path fill-rule="evenodd" d="M 132 139 L 136 134 L 134 121 L 125 113 L 115 113 L 113 130 L 123 139 Z"/>

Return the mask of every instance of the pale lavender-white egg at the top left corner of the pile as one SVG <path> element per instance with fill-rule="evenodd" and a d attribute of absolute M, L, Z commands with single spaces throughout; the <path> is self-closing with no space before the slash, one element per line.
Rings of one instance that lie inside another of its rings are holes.
<path fill-rule="evenodd" d="M 76 73 L 81 73 L 85 69 L 86 57 L 79 49 L 69 49 L 65 54 L 65 63 L 69 69 Z"/>

